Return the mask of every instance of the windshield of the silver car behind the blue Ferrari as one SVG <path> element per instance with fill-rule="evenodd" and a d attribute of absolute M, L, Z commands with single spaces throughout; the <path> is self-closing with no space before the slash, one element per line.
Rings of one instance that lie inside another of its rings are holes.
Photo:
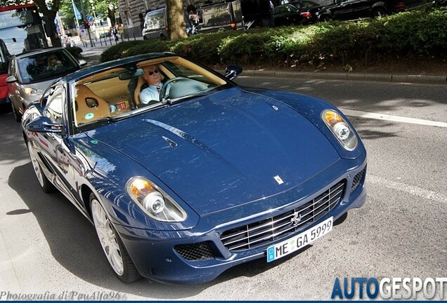
<path fill-rule="evenodd" d="M 64 50 L 18 58 L 18 73 L 23 84 L 48 81 L 79 69 Z"/>

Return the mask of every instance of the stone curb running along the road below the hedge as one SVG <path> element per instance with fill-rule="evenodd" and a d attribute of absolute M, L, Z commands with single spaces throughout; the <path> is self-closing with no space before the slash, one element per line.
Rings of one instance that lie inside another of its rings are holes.
<path fill-rule="evenodd" d="M 219 70 L 220 73 L 224 71 Z M 275 78 L 309 78 L 329 80 L 351 80 L 351 81 L 383 81 L 394 83 L 429 83 L 447 84 L 447 76 L 433 75 L 403 75 L 403 74 L 352 74 L 339 72 L 283 72 L 283 71 L 257 71 L 246 70 L 244 76 L 275 77 Z"/>

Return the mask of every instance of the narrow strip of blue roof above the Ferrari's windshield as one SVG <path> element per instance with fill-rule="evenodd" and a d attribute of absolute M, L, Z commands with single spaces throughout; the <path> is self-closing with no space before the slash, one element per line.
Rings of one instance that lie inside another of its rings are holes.
<path fill-rule="evenodd" d="M 145 55 L 135 55 L 127 58 L 112 60 L 109 62 L 101 63 L 99 65 L 93 65 L 91 67 L 85 67 L 83 69 L 79 69 L 77 72 L 65 76 L 65 81 L 67 82 L 75 81 L 77 79 L 84 78 L 85 76 L 89 76 L 90 74 L 96 74 L 98 72 L 101 72 L 101 70 L 110 69 L 111 67 L 119 65 L 127 65 L 134 62 L 140 62 L 143 60 L 171 57 L 173 55 L 181 57 L 181 55 L 176 55 L 174 53 L 148 53 Z"/>

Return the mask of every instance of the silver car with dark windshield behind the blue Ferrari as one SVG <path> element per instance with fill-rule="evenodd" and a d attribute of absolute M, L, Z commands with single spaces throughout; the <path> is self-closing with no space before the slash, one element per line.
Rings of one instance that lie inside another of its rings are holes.
<path fill-rule="evenodd" d="M 6 83 L 15 121 L 20 121 L 27 105 L 39 100 L 53 81 L 80 68 L 81 63 L 65 48 L 46 48 L 12 56 Z"/>

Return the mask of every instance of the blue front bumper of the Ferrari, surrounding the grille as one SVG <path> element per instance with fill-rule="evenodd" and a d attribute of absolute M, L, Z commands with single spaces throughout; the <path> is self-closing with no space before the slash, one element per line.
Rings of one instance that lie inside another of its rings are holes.
<path fill-rule="evenodd" d="M 338 175 L 330 173 L 328 177 L 328 171 L 338 172 Z M 339 175 L 340 171 L 344 173 Z M 205 215 L 193 229 L 155 231 L 120 225 L 115 227 L 142 276 L 162 283 L 205 283 L 237 264 L 262 257 L 266 259 L 266 249 L 270 245 L 291 238 L 328 217 L 337 220 L 351 208 L 363 206 L 366 199 L 365 175 L 366 156 L 363 153 L 359 159 L 338 161 L 296 189 L 249 206 Z M 221 240 L 222 234 L 231 229 L 296 211 L 340 182 L 344 182 L 344 191 L 337 204 L 309 224 L 254 248 L 229 250 Z M 185 250 L 188 252 L 185 253 Z"/>

